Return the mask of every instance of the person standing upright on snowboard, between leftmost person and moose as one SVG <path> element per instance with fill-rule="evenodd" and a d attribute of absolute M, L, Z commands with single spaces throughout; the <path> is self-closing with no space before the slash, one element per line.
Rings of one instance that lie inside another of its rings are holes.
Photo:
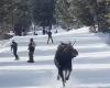
<path fill-rule="evenodd" d="M 29 61 L 28 61 L 28 63 L 34 63 L 34 59 L 33 59 L 34 51 L 35 51 L 35 43 L 34 43 L 33 38 L 31 38 L 30 44 L 29 44 Z"/>

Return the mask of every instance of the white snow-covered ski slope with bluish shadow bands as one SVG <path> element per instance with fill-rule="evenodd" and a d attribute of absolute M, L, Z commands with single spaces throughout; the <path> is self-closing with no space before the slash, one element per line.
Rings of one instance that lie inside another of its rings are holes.
<path fill-rule="evenodd" d="M 66 88 L 110 88 L 110 46 L 108 37 L 103 36 L 89 33 L 88 28 L 53 34 L 54 44 L 48 45 L 47 35 L 14 36 L 0 46 L 0 88 L 62 88 L 62 81 L 56 80 L 55 51 L 61 42 L 74 43 L 75 40 L 79 55 L 73 59 L 73 73 Z M 33 64 L 26 63 L 31 37 L 36 43 Z M 19 44 L 20 61 L 13 61 L 12 40 Z"/>

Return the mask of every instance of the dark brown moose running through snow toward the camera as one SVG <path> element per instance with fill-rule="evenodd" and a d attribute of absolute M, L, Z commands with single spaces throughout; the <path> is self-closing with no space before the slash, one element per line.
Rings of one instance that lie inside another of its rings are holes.
<path fill-rule="evenodd" d="M 64 87 L 72 73 L 72 59 L 78 55 L 78 52 L 74 48 L 74 44 L 61 43 L 54 57 L 55 66 L 58 69 L 57 79 L 62 78 Z"/>

